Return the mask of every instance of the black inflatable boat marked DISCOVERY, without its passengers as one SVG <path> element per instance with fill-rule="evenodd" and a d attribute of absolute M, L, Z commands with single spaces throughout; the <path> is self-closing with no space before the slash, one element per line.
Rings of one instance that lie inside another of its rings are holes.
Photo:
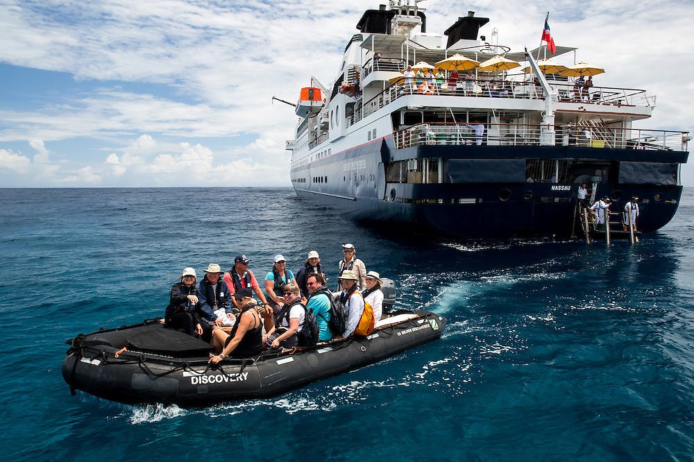
<path fill-rule="evenodd" d="M 151 320 L 80 334 L 62 376 L 72 391 L 128 404 L 175 403 L 184 407 L 271 397 L 315 380 L 375 363 L 438 339 L 446 318 L 429 311 L 398 310 L 373 334 L 259 357 L 208 365 L 211 347 Z"/>

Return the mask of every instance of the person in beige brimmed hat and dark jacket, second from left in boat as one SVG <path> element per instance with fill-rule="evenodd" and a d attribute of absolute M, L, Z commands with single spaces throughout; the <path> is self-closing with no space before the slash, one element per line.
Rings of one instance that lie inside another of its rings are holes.
<path fill-rule="evenodd" d="M 212 325 L 223 326 L 233 325 L 233 314 L 231 296 L 226 284 L 221 280 L 221 267 L 216 263 L 210 263 L 203 269 L 205 276 L 198 283 L 198 299 L 200 301 L 201 318 L 200 325 L 203 327 L 203 341 L 212 340 Z M 230 315 L 230 316 L 228 316 Z"/>

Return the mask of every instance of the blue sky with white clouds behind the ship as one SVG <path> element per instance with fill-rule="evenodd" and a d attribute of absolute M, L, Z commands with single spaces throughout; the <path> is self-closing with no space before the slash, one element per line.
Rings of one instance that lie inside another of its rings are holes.
<path fill-rule="evenodd" d="M 295 101 L 311 76 L 332 86 L 378 3 L 0 0 L 0 187 L 289 186 L 296 116 L 271 97 Z M 694 132 L 692 1 L 420 6 L 429 33 L 489 17 L 480 33 L 512 51 L 539 45 L 551 8 L 557 45 L 606 69 L 595 85 L 657 96 L 639 128 Z"/>

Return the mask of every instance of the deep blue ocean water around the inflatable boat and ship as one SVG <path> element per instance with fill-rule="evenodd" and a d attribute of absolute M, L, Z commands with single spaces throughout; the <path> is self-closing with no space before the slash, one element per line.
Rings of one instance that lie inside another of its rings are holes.
<path fill-rule="evenodd" d="M 456 243 L 346 221 L 291 189 L 0 189 L 6 460 L 694 459 L 694 190 L 636 246 Z M 646 211 L 644 211 L 646 212 Z M 160 316 L 184 266 L 261 277 L 340 244 L 448 318 L 439 341 L 205 409 L 69 393 L 79 332 Z"/>

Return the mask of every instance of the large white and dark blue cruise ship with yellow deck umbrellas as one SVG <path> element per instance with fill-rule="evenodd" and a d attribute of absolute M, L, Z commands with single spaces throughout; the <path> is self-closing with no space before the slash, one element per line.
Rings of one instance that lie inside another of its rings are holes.
<path fill-rule="evenodd" d="M 473 12 L 428 33 L 417 3 L 366 10 L 332 85 L 302 89 L 287 142 L 298 196 L 453 237 L 569 237 L 586 183 L 620 208 L 638 196 L 642 232 L 670 221 L 690 137 L 632 126 L 654 96 L 586 87 L 601 69 L 555 60 L 577 49 L 511 52 Z M 445 76 L 411 80 L 408 65 Z"/>

